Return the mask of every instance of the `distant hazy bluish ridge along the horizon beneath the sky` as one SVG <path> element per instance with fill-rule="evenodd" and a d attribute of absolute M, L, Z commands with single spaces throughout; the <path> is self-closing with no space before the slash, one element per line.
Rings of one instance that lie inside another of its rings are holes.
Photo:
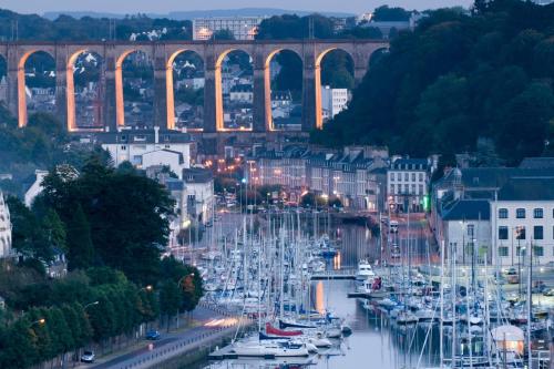
<path fill-rule="evenodd" d="M 309 16 L 316 11 L 306 10 L 286 10 L 278 8 L 240 8 L 240 9 L 214 9 L 214 10 L 192 10 L 192 11 L 172 11 L 167 14 L 146 13 L 150 18 L 168 18 L 174 20 L 188 20 L 194 18 L 207 17 L 256 17 L 256 16 L 281 16 L 297 14 L 300 17 Z M 326 17 L 353 17 L 352 13 L 346 12 L 319 12 Z M 43 14 L 44 18 L 54 20 L 60 16 L 70 16 L 73 18 L 92 17 L 92 18 L 113 18 L 122 19 L 126 14 L 95 12 L 95 11 L 49 11 Z"/>

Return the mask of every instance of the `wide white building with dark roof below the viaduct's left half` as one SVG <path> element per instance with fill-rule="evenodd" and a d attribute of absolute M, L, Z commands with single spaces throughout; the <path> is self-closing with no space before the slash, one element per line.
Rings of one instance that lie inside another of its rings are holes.
<path fill-rule="evenodd" d="M 96 140 L 107 150 L 115 166 L 130 162 L 137 168 L 168 165 L 181 177 L 183 168 L 191 166 L 192 137 L 176 131 L 121 130 L 99 133 Z"/>

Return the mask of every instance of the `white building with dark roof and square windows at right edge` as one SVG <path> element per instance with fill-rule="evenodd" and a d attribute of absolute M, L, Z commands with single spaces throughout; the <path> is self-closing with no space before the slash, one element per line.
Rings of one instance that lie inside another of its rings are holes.
<path fill-rule="evenodd" d="M 554 262 L 554 177 L 513 177 L 491 201 L 493 260 L 501 266 Z"/>

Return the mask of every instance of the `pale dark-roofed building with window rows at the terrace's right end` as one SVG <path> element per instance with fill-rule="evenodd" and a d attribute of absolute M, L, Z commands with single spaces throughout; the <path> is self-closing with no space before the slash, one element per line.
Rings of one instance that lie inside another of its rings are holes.
<path fill-rule="evenodd" d="M 387 172 L 387 197 L 396 211 L 421 212 L 428 193 L 431 162 L 427 158 L 397 158 Z"/>

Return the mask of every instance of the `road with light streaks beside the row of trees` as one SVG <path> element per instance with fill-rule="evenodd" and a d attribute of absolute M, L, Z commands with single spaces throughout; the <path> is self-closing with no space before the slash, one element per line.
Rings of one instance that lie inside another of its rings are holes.
<path fill-rule="evenodd" d="M 121 369 L 132 366 L 137 366 L 146 358 L 152 356 L 162 356 L 168 350 L 172 344 L 184 344 L 183 351 L 186 350 L 186 344 L 194 345 L 194 342 L 206 338 L 212 332 L 219 330 L 223 326 L 236 324 L 238 319 L 216 312 L 205 307 L 197 307 L 194 310 L 193 319 L 198 322 L 197 327 L 187 329 L 182 332 L 162 332 L 162 338 L 156 341 L 146 341 L 133 349 L 130 352 L 121 355 L 110 355 L 105 359 L 98 359 L 93 365 L 81 365 L 78 368 L 94 368 L 94 369 Z"/>

